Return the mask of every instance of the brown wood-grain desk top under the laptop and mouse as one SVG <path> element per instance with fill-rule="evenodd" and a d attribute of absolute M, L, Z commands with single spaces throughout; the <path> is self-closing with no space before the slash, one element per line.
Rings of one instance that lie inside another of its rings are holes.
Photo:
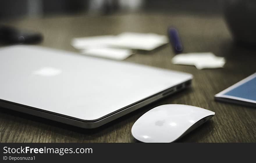
<path fill-rule="evenodd" d="M 214 101 L 214 94 L 256 70 L 256 50 L 232 44 L 221 16 L 189 14 L 128 14 L 119 16 L 58 16 L 19 19 L 3 24 L 40 31 L 40 44 L 76 51 L 73 37 L 119 34 L 124 31 L 166 34 L 175 25 L 185 47 L 184 52 L 212 51 L 227 60 L 225 68 L 197 70 L 193 66 L 173 65 L 170 45 L 152 52 L 138 51 L 128 62 L 184 71 L 193 74 L 189 89 L 167 97 L 100 128 L 86 130 L 1 108 L 0 142 L 138 142 L 131 135 L 133 123 L 148 110 L 163 104 L 187 104 L 216 112 L 211 121 L 178 142 L 256 142 L 256 109 Z"/>

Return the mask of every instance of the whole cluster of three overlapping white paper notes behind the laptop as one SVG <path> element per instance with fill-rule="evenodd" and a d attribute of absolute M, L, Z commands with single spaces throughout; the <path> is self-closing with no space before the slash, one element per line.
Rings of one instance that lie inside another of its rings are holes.
<path fill-rule="evenodd" d="M 168 43 L 164 35 L 125 32 L 120 35 L 79 37 L 71 45 L 84 55 L 124 60 L 132 54 L 130 49 L 153 50 Z"/>

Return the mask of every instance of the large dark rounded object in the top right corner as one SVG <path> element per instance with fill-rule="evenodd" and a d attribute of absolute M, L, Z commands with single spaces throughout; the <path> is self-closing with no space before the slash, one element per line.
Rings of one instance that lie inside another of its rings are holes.
<path fill-rule="evenodd" d="M 225 0 L 224 14 L 228 27 L 239 45 L 256 46 L 256 1 Z"/>

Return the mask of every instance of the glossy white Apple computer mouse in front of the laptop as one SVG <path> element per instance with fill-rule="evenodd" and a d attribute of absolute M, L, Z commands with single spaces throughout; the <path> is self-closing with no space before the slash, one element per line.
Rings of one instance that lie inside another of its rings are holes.
<path fill-rule="evenodd" d="M 143 114 L 132 126 L 131 134 L 146 143 L 173 142 L 211 119 L 214 114 L 190 105 L 160 105 Z"/>

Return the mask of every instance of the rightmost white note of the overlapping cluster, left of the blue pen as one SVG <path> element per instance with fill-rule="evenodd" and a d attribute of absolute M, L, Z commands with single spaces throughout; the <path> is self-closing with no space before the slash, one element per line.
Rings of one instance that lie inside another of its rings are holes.
<path fill-rule="evenodd" d="M 165 35 L 158 35 L 156 33 L 124 32 L 117 35 L 117 40 L 110 42 L 109 45 L 127 49 L 150 51 L 168 42 L 168 38 Z"/>

